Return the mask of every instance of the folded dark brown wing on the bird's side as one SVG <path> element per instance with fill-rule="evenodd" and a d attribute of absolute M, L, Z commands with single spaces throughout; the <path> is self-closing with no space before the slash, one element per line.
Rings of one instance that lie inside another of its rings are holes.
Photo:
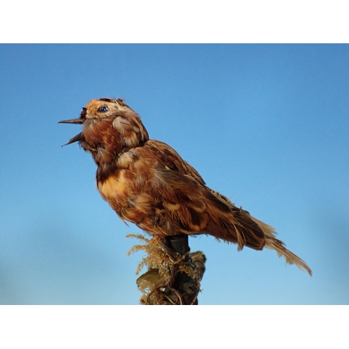
<path fill-rule="evenodd" d="M 172 170 L 155 170 L 152 185 L 154 198 L 167 198 L 170 209 L 163 218 L 177 225 L 179 231 L 188 235 L 199 232 L 238 244 L 241 250 L 248 246 L 257 250 L 265 244 L 265 236 L 247 211 L 216 195 L 192 177 Z M 168 202 L 163 202 L 168 207 Z"/>

